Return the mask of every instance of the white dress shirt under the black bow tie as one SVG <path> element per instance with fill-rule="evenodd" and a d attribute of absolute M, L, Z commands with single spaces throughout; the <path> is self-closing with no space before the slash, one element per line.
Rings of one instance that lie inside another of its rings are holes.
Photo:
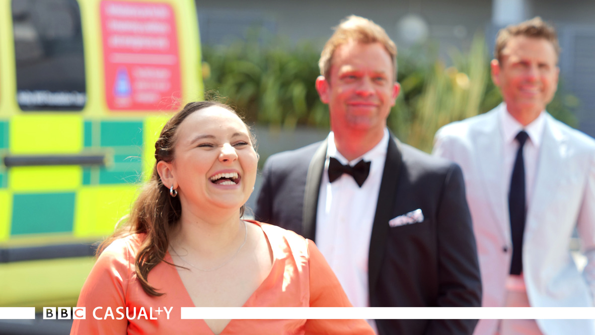
<path fill-rule="evenodd" d="M 384 129 L 384 137 L 374 148 L 348 162 L 337 151 L 333 132 L 328 135 L 327 158 L 318 198 L 315 242 L 355 307 L 369 306 L 369 245 L 389 138 L 389 131 Z M 369 175 L 362 187 L 349 174 L 343 174 L 330 183 L 330 157 L 351 166 L 360 159 L 370 161 Z"/>

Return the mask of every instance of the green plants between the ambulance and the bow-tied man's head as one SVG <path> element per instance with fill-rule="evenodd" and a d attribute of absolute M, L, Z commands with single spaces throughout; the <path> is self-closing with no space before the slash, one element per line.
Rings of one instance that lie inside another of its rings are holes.
<path fill-rule="evenodd" d="M 278 36 L 230 46 L 203 46 L 211 69 L 207 90 L 215 90 L 245 114 L 248 121 L 293 129 L 297 124 L 328 127 L 328 110 L 314 87 L 318 51 L 310 43 L 290 46 Z"/>

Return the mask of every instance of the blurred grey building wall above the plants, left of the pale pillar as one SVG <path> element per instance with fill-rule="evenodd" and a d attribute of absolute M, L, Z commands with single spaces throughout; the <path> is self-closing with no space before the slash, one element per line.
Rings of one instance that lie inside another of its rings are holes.
<path fill-rule="evenodd" d="M 294 42 L 300 39 L 314 40 L 320 46 L 332 34 L 336 26 L 347 15 L 367 17 L 386 29 L 397 42 L 406 41 L 397 33 L 396 25 L 406 14 L 414 13 L 428 23 L 430 36 L 439 37 L 456 45 L 464 45 L 472 34 L 483 29 L 490 22 L 489 4 L 472 0 L 454 0 L 448 4 L 440 0 L 387 1 L 387 0 L 344 0 L 344 1 L 269 1 L 269 0 L 219 0 L 197 2 L 201 20 L 201 30 L 208 34 L 203 37 L 206 43 L 226 43 L 222 35 L 241 36 L 237 29 L 259 24 L 275 33 L 288 36 Z M 448 12 L 448 15 L 444 15 Z M 211 19 L 209 19 L 209 17 Z M 217 18 L 215 23 L 212 18 Z M 459 27 L 458 27 L 459 26 Z M 455 36 L 453 30 L 461 27 L 466 34 Z M 213 30 L 217 30 L 214 32 Z M 218 36 L 217 39 L 212 36 Z"/>

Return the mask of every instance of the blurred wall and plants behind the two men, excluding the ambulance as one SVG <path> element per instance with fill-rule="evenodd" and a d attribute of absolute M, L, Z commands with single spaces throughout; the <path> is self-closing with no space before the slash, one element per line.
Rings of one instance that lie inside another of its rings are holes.
<path fill-rule="evenodd" d="M 197 2 L 197 11 L 205 89 L 255 126 L 261 164 L 326 136 L 328 109 L 314 87 L 318 58 L 331 27 L 350 14 L 380 24 L 397 43 L 402 91 L 389 127 L 403 142 L 430 152 L 441 126 L 499 104 L 489 68 L 496 33 L 535 16 L 556 27 L 562 48 L 558 93 L 547 110 L 595 135 L 592 1 L 221 0 Z"/>

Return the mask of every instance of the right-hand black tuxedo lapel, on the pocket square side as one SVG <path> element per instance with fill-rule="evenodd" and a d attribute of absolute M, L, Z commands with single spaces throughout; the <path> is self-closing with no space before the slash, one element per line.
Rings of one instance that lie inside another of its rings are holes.
<path fill-rule="evenodd" d="M 389 147 L 386 152 L 386 162 L 378 192 L 378 203 L 370 237 L 370 250 L 368 258 L 368 287 L 369 296 L 375 291 L 380 266 L 383 261 L 386 239 L 389 235 L 389 220 L 393 214 L 394 202 L 397 194 L 397 183 L 402 165 L 402 156 L 397 140 L 390 135 Z"/>

